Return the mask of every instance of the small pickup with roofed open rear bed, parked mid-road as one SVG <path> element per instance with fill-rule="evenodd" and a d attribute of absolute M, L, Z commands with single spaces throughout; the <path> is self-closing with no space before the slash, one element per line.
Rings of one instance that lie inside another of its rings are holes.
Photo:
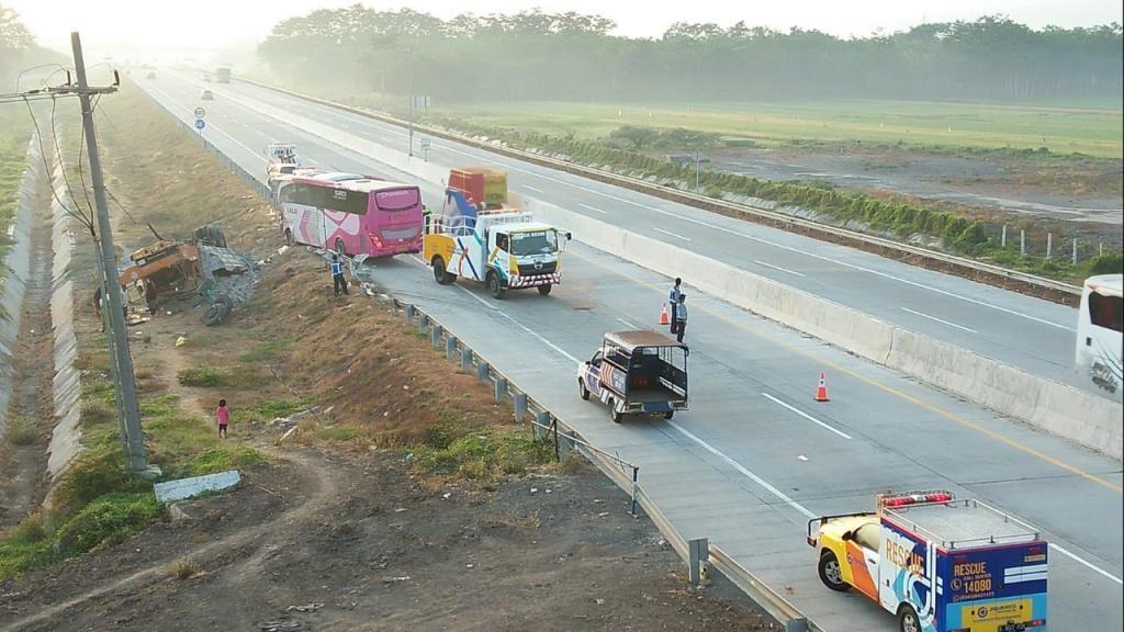
<path fill-rule="evenodd" d="M 625 415 L 662 415 L 687 409 L 686 345 L 659 332 L 605 334 L 601 349 L 578 367 L 578 392 L 597 397 L 620 423 Z"/>

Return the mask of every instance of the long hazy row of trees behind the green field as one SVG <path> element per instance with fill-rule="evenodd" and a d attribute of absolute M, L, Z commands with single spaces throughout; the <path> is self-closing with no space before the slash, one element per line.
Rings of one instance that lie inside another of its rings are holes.
<path fill-rule="evenodd" d="M 260 56 L 334 93 L 443 100 L 792 98 L 1118 100 L 1121 25 L 1032 29 L 1003 16 L 844 39 L 738 22 L 610 35 L 600 16 L 540 10 L 448 20 L 355 4 L 274 26 Z"/>

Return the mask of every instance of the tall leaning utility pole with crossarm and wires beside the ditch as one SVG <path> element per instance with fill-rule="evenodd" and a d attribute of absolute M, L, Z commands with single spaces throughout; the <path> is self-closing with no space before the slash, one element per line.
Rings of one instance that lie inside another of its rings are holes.
<path fill-rule="evenodd" d="M 71 45 L 74 48 L 74 70 L 78 88 L 70 88 L 78 94 L 82 103 L 82 126 L 85 130 L 85 148 L 90 156 L 90 179 L 93 181 L 93 204 L 98 215 L 98 247 L 101 254 L 102 278 L 102 312 L 109 324 L 110 361 L 114 362 L 114 373 L 117 378 L 118 414 L 124 417 L 121 427 L 125 431 L 123 444 L 126 448 L 125 464 L 134 471 L 145 471 L 148 467 L 144 448 L 144 434 L 140 431 L 140 406 L 137 403 L 136 376 L 133 372 L 133 358 L 129 354 L 129 338 L 125 328 L 124 297 L 117 282 L 117 258 L 114 251 L 114 233 L 109 224 L 109 208 L 106 204 L 106 184 L 101 177 L 101 159 L 98 156 L 98 136 L 93 127 L 92 94 L 116 92 L 117 87 L 90 88 L 85 76 L 85 60 L 82 57 L 82 40 L 79 34 L 71 33 Z"/>

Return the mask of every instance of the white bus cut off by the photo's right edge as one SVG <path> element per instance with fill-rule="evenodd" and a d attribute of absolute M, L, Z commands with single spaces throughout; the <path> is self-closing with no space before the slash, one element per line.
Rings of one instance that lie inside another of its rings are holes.
<path fill-rule="evenodd" d="M 1086 279 L 1077 322 L 1077 369 L 1116 400 L 1124 391 L 1121 279 L 1121 274 Z"/>

